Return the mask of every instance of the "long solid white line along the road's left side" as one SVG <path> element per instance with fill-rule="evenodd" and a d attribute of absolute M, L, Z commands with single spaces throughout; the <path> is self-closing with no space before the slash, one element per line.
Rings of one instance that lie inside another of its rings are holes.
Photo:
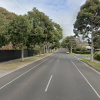
<path fill-rule="evenodd" d="M 49 59 L 49 58 L 48 58 Z M 15 80 L 17 80 L 18 78 L 20 78 L 21 76 L 25 75 L 26 73 L 28 73 L 29 71 L 31 71 L 32 69 L 36 68 L 37 66 L 39 66 L 40 64 L 42 64 L 43 62 L 47 61 L 48 59 L 42 61 L 41 63 L 39 63 L 38 65 L 32 67 L 31 69 L 29 69 L 28 71 L 24 72 L 23 74 L 21 74 L 20 76 L 16 77 L 15 79 L 13 79 L 12 81 L 8 82 L 7 84 L 3 85 L 0 87 L 0 90 L 3 89 L 4 87 L 6 87 L 7 85 L 9 85 L 10 83 L 14 82 Z"/>

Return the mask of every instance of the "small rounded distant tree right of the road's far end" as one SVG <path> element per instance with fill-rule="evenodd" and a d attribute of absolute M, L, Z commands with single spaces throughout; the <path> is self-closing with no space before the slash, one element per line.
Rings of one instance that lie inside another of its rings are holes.
<path fill-rule="evenodd" d="M 74 36 L 65 37 L 62 41 L 62 46 L 64 48 L 68 48 L 68 50 L 72 53 L 72 49 L 76 47 L 76 40 Z"/>

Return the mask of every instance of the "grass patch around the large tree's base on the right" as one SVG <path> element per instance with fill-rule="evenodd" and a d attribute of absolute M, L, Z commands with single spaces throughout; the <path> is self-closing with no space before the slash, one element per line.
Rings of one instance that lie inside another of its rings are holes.
<path fill-rule="evenodd" d="M 86 58 L 81 58 L 81 60 L 86 62 L 87 64 L 89 64 L 91 67 L 94 67 L 95 69 L 100 71 L 100 63 L 99 62 L 96 62 L 96 61 L 90 62 L 90 60 L 86 59 Z"/>

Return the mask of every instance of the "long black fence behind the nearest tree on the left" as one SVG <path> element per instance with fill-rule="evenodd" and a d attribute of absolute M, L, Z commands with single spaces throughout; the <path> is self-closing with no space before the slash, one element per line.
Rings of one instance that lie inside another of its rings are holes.
<path fill-rule="evenodd" d="M 32 50 L 24 50 L 24 57 L 33 56 Z M 21 58 L 21 50 L 0 50 L 0 62 Z"/>

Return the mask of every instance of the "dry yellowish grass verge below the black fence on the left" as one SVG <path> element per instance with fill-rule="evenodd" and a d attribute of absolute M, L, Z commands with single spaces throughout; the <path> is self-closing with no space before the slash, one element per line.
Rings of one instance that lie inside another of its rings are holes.
<path fill-rule="evenodd" d="M 34 62 L 36 60 L 39 60 L 43 57 L 49 56 L 51 54 L 53 54 L 53 53 L 48 53 L 48 54 L 45 54 L 45 55 L 35 56 L 35 57 L 32 57 L 32 58 L 27 58 L 27 59 L 24 60 L 24 62 L 14 61 L 14 62 L 11 62 L 11 63 L 4 63 L 4 64 L 0 65 L 0 69 L 16 69 L 18 67 L 24 66 L 26 64 L 29 64 L 29 63 Z"/>

